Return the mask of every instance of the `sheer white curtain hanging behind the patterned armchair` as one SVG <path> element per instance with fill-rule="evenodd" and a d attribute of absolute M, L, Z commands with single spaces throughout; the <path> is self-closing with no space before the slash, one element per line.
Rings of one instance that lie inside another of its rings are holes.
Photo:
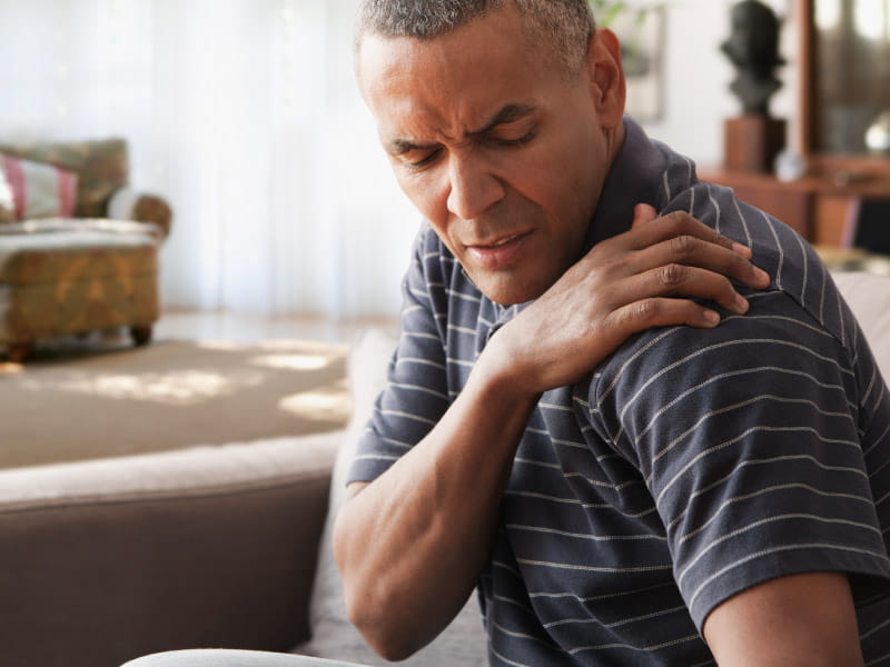
<path fill-rule="evenodd" d="M 166 307 L 394 313 L 419 218 L 353 76 L 357 0 L 0 0 L 0 139 L 125 137 Z"/>

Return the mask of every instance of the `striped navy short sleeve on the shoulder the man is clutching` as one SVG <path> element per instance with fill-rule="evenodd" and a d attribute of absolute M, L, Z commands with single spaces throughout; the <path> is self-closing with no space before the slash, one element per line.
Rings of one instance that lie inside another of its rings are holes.
<path fill-rule="evenodd" d="M 700 630 L 715 606 L 777 577 L 844 571 L 854 593 L 887 593 L 890 577 L 849 350 L 785 293 L 750 300 L 713 330 L 647 332 L 596 389 L 604 436 L 645 479 Z"/>

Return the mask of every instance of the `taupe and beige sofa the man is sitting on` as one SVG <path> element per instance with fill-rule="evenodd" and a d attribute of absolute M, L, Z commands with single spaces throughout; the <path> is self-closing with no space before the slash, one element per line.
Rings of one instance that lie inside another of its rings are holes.
<path fill-rule="evenodd" d="M 890 278 L 835 279 L 890 377 Z M 345 618 L 330 527 L 394 346 L 372 330 L 352 347 L 343 430 L 0 470 L 0 664 L 196 647 L 386 664 Z M 404 664 L 483 667 L 476 600 Z"/>

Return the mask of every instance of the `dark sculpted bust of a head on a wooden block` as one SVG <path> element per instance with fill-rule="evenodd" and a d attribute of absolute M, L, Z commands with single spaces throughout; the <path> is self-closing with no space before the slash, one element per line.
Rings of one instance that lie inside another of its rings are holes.
<path fill-rule="evenodd" d="M 779 56 L 779 19 L 758 0 L 743 0 L 732 8 L 732 33 L 721 49 L 736 68 L 730 89 L 744 113 L 769 117 L 770 98 L 782 87 L 775 68 Z"/>

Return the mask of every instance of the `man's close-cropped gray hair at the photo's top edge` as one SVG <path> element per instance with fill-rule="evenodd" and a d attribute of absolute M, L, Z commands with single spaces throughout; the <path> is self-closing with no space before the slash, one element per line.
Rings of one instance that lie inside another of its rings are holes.
<path fill-rule="evenodd" d="M 587 0 L 364 0 L 356 50 L 365 34 L 433 39 L 513 3 L 528 37 L 548 43 L 568 74 L 576 74 L 596 29 Z"/>

